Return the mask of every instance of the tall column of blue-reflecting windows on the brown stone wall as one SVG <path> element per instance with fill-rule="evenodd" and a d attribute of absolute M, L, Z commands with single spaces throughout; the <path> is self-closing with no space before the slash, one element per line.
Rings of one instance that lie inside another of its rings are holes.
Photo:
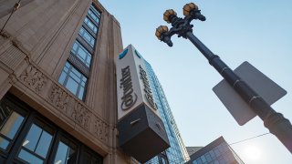
<path fill-rule="evenodd" d="M 88 70 L 86 72 L 89 72 L 92 58 L 92 54 L 90 53 L 92 51 L 90 51 L 89 48 L 93 49 L 96 45 L 99 19 L 100 12 L 94 5 L 91 5 L 88 15 L 85 17 L 83 25 L 78 33 L 78 37 L 82 39 L 82 42 L 78 41 L 78 39 L 75 40 L 70 51 L 70 56 L 77 56 L 78 59 L 68 60 L 58 79 L 60 84 L 67 87 L 71 93 L 81 100 L 85 99 L 89 75 L 83 74 L 80 70 L 85 68 Z"/>

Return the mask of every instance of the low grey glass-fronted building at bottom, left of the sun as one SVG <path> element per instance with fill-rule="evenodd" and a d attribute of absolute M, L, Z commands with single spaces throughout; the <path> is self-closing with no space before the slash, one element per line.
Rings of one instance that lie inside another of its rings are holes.
<path fill-rule="evenodd" d="M 244 164 L 223 137 L 195 151 L 190 158 L 186 164 Z"/>

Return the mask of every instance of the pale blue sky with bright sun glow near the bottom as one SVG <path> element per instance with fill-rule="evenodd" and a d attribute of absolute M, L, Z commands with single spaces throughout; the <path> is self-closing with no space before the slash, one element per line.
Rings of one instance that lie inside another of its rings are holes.
<path fill-rule="evenodd" d="M 189 40 L 173 46 L 155 34 L 166 9 L 183 16 L 193 2 L 206 21 L 193 21 L 193 34 L 232 69 L 248 61 L 287 90 L 272 105 L 292 120 L 292 1 L 290 0 L 99 0 L 120 22 L 123 46 L 136 47 L 151 64 L 168 99 L 186 147 L 205 146 L 223 136 L 246 164 L 290 164 L 291 153 L 255 117 L 239 126 L 212 88 L 223 77 Z M 246 138 L 253 138 L 235 143 Z"/>

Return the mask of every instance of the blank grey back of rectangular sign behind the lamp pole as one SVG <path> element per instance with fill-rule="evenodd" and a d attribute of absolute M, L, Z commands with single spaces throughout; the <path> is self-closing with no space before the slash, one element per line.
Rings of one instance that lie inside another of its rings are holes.
<path fill-rule="evenodd" d="M 235 69 L 235 74 L 241 77 L 249 87 L 253 88 L 260 97 L 263 97 L 269 105 L 287 94 L 286 90 L 279 87 L 274 81 L 246 61 Z M 213 87 L 213 91 L 239 125 L 242 126 L 252 118 L 255 118 L 256 114 L 253 109 L 245 103 L 226 80 L 223 79 Z"/>

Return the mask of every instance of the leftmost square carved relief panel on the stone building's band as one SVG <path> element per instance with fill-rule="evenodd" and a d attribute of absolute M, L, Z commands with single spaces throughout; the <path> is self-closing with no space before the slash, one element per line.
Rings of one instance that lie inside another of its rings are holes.
<path fill-rule="evenodd" d="M 38 94 L 47 83 L 47 77 L 32 65 L 26 67 L 26 70 L 20 75 L 19 79 Z"/>

